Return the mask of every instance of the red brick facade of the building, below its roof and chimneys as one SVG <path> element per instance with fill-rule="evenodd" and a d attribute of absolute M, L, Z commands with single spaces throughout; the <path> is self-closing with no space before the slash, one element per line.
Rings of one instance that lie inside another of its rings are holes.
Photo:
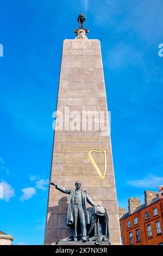
<path fill-rule="evenodd" d="M 127 213 L 121 216 L 120 225 L 123 245 L 159 245 L 161 243 L 163 245 L 162 209 L 163 198 L 158 197 L 153 199 L 149 205 L 144 204 L 139 206 L 132 214 Z M 149 216 L 149 218 L 146 218 L 146 212 L 148 212 L 147 217 Z M 137 224 L 134 223 L 134 218 L 137 218 Z M 130 227 L 128 227 L 129 221 Z M 158 229 L 156 228 L 156 224 L 158 225 Z M 151 227 L 149 225 L 151 225 Z M 136 230 L 139 230 L 137 234 L 140 234 L 140 237 L 136 236 Z M 131 234 L 129 235 L 129 233 Z"/>

